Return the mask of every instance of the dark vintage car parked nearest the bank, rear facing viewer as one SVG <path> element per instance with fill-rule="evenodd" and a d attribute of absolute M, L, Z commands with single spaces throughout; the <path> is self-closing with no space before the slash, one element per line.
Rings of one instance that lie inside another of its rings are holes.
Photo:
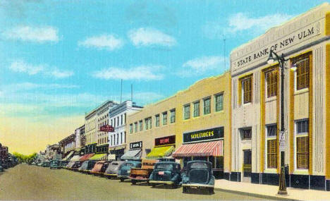
<path fill-rule="evenodd" d="M 214 193 L 214 179 L 211 162 L 190 161 L 182 176 L 183 193 L 188 193 L 190 188 L 206 188 L 209 193 Z"/>

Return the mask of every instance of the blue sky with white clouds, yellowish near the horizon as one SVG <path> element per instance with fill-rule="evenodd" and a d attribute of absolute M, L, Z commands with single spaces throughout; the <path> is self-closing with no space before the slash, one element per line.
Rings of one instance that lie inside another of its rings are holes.
<path fill-rule="evenodd" d="M 229 69 L 230 52 L 325 1 L 0 1 L 0 142 L 44 150 L 102 102 L 144 106 Z"/>

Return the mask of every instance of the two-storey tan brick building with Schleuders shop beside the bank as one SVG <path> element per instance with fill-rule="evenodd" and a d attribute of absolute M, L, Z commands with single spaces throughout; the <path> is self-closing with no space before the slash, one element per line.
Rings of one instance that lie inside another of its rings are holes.
<path fill-rule="evenodd" d="M 230 83 L 230 73 L 205 78 L 128 116 L 128 145 L 142 142 L 142 158 L 159 157 L 157 154 L 162 149 L 173 152 L 172 156 L 181 159 L 183 164 L 191 159 L 209 160 L 218 177 L 228 176 L 231 171 Z M 200 145 L 209 147 L 209 154 L 200 153 Z M 195 154 L 186 152 L 187 147 L 195 149 Z"/>

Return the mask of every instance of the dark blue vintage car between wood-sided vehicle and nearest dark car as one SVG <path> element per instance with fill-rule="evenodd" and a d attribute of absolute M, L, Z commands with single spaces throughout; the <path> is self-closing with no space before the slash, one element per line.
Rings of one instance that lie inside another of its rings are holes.
<path fill-rule="evenodd" d="M 171 185 L 177 188 L 181 182 L 181 166 L 176 162 L 158 162 L 154 164 L 154 170 L 149 176 L 152 186 L 157 184 Z"/>

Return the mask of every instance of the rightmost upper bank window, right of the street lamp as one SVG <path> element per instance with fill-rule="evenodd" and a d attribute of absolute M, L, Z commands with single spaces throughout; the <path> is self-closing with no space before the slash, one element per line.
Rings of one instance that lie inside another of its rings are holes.
<path fill-rule="evenodd" d="M 297 90 L 302 90 L 310 86 L 310 59 L 309 56 L 298 60 L 297 66 Z"/>

